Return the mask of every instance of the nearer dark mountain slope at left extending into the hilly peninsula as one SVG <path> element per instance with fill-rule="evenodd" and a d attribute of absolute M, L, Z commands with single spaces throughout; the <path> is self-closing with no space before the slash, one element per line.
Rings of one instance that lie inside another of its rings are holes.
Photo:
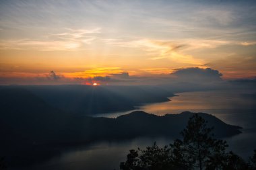
<path fill-rule="evenodd" d="M 0 101 L 0 150 L 13 166 L 33 163 L 38 157 L 49 158 L 59 153 L 62 146 L 139 136 L 176 138 L 194 114 L 156 116 L 136 111 L 117 118 L 92 118 L 63 112 L 36 93 L 16 87 L 0 88 Z M 241 133 L 239 126 L 226 124 L 210 114 L 198 114 L 215 127 L 217 137 Z"/>

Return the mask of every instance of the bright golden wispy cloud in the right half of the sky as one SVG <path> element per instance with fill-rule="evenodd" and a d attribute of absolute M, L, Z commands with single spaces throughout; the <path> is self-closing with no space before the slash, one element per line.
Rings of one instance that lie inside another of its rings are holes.
<path fill-rule="evenodd" d="M 254 42 L 237 42 L 232 40 L 218 39 L 195 39 L 183 38 L 180 40 L 125 40 L 125 39 L 104 39 L 106 44 L 125 48 L 140 48 L 146 52 L 146 56 L 151 60 L 169 59 L 179 64 L 199 67 L 205 64 L 205 60 L 191 55 L 191 52 L 198 52 L 207 49 L 214 49 L 227 45 L 253 45 Z"/>

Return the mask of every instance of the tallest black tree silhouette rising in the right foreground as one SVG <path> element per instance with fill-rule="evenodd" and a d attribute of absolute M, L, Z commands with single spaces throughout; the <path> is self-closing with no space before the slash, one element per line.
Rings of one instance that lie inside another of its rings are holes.
<path fill-rule="evenodd" d="M 217 140 L 212 134 L 213 128 L 207 128 L 207 122 L 194 114 L 189 118 L 187 127 L 181 132 L 183 136 L 183 150 L 189 165 L 199 167 L 220 165 L 225 149 L 226 141 Z"/>

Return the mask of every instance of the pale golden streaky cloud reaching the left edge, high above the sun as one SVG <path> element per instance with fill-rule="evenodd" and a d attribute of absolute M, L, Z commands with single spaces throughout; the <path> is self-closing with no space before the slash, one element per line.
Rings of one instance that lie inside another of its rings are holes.
<path fill-rule="evenodd" d="M 66 28 L 67 32 L 44 35 L 37 39 L 1 40 L 0 49 L 13 50 L 78 50 L 96 39 L 92 34 L 99 34 L 100 28 L 92 30 Z"/>

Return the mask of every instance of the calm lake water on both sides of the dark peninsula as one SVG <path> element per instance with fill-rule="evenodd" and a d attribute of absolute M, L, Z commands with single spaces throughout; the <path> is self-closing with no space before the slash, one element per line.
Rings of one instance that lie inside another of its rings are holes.
<path fill-rule="evenodd" d="M 225 138 L 229 149 L 247 158 L 256 149 L 256 113 L 255 99 L 248 97 L 252 91 L 203 91 L 177 93 L 171 101 L 144 105 L 143 110 L 157 115 L 179 114 L 183 111 L 205 112 L 213 114 L 228 124 L 242 126 L 243 133 Z M 130 111 L 131 112 L 131 111 Z M 104 114 L 115 118 L 129 112 Z M 32 166 L 30 169 L 119 169 L 130 148 L 145 148 L 157 141 L 161 146 L 172 142 L 172 138 L 135 138 L 125 141 L 96 142 L 89 146 L 69 148 L 57 157 Z M 28 169 L 28 167 L 26 168 Z"/>

